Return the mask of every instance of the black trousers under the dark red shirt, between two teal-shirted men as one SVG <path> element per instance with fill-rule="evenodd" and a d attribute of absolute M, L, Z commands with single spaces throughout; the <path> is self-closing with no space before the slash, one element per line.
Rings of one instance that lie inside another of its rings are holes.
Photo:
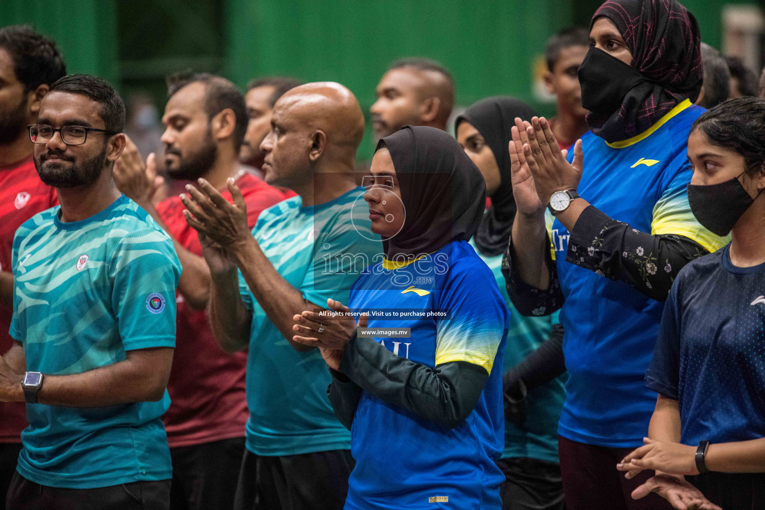
<path fill-rule="evenodd" d="M 244 437 L 171 448 L 171 510 L 231 510 L 244 450 Z"/>

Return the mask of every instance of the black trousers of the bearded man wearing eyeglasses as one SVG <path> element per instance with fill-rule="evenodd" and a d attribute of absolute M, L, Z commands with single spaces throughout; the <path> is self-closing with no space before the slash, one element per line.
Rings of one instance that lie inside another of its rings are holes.
<path fill-rule="evenodd" d="M 168 510 L 170 480 L 60 489 L 41 486 L 16 473 L 5 505 L 8 510 Z"/>

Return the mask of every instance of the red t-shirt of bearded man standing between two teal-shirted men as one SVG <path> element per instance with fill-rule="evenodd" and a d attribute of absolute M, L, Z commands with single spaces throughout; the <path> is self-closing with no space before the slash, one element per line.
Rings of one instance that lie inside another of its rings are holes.
<path fill-rule="evenodd" d="M 252 174 L 236 180 L 247 204 L 250 228 L 260 212 L 295 196 L 265 184 Z M 221 194 L 231 200 L 231 193 Z M 202 255 L 197 231 L 184 219 L 179 197 L 157 206 L 171 236 L 190 252 Z M 207 313 L 194 310 L 180 293 L 177 296 L 176 343 L 168 382 L 170 409 L 162 417 L 171 448 L 243 437 L 249 417 L 245 399 L 246 352 L 227 354 L 213 337 Z"/>

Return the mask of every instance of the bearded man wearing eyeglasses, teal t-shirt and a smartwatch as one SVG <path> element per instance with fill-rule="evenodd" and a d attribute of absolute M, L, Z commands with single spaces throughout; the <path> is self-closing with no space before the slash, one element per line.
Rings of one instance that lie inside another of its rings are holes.
<path fill-rule="evenodd" d="M 15 343 L 0 358 L 0 401 L 26 401 L 29 419 L 6 499 L 14 510 L 169 505 L 160 417 L 181 265 L 114 184 L 124 124 L 115 89 L 75 74 L 50 86 L 28 126 L 60 206 L 19 227 L 12 248 Z"/>

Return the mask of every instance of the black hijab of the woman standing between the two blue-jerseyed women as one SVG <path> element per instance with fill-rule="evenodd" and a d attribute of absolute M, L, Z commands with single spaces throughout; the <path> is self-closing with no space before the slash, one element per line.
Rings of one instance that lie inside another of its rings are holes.
<path fill-rule="evenodd" d="M 513 182 L 510 175 L 510 155 L 507 149 L 510 128 L 516 117 L 531 122 L 536 113 L 525 102 L 506 96 L 481 99 L 457 117 L 456 125 L 465 121 L 478 130 L 494 153 L 496 165 L 500 167 L 500 187 L 491 195 L 491 206 L 475 235 L 478 251 L 487 257 L 502 255 L 507 249 L 513 219 L 516 217 L 516 199 L 513 197 Z"/>

